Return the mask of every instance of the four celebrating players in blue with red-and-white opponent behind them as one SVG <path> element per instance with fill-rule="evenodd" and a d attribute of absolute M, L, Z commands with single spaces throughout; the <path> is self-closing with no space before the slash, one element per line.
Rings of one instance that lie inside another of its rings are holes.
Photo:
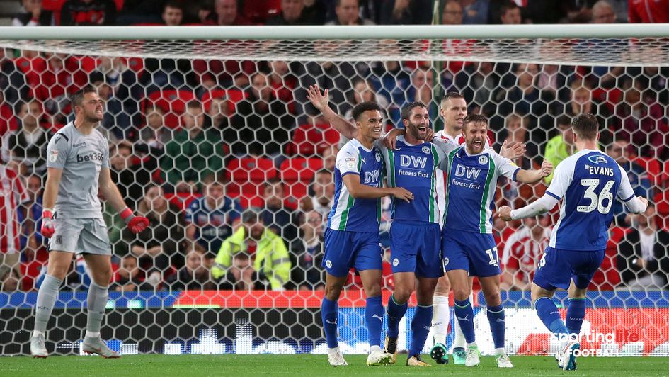
<path fill-rule="evenodd" d="M 474 334 L 471 286 L 479 278 L 495 344 L 497 365 L 513 368 L 505 352 L 504 308 L 500 294 L 501 269 L 492 235 L 494 198 L 499 176 L 534 183 L 553 171 L 544 160 L 541 169 L 524 170 L 511 162 L 524 153 L 520 144 L 503 145 L 500 153 L 488 140 L 488 119 L 467 115 L 464 96 L 448 93 L 440 103 L 445 130 L 430 130 L 428 108 L 408 103 L 401 109 L 402 129 L 382 135 L 383 109 L 373 102 L 353 108 L 353 123 L 328 107 L 324 93 L 310 86 L 308 98 L 348 142 L 337 154 L 335 197 L 325 235 L 326 287 L 321 317 L 328 345 L 328 362 L 347 365 L 337 341 L 337 300 L 355 267 L 367 296 L 365 320 L 370 353 L 367 365 L 396 362 L 399 322 L 416 290 L 407 366 L 430 366 L 421 360 L 430 327 L 434 346 L 430 356 L 448 362 L 445 346 L 449 323 L 448 293 L 454 293 L 455 364 L 478 366 L 480 352 Z M 505 221 L 536 216 L 562 199 L 560 218 L 549 247 L 539 261 L 532 283 L 537 314 L 560 340 L 556 354 L 563 370 L 576 369 L 575 351 L 585 317 L 585 291 L 604 258 L 614 196 L 633 213 L 648 202 L 637 197 L 627 174 L 598 150 L 599 125 L 592 114 L 573 118 L 576 154 L 556 168 L 542 198 L 511 210 L 498 209 Z M 382 187 L 384 186 L 385 187 Z M 381 347 L 384 308 L 381 296 L 382 248 L 379 242 L 381 198 L 391 196 L 391 266 L 395 282 L 388 300 L 385 342 Z M 563 322 L 552 300 L 556 288 L 568 289 L 570 305 Z"/>

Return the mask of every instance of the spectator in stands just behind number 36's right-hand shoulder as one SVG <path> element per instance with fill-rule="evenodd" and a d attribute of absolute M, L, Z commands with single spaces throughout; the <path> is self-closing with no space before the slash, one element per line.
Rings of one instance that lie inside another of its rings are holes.
<path fill-rule="evenodd" d="M 612 157 L 627 172 L 629 184 L 634 188 L 636 196 L 644 198 L 653 198 L 653 188 L 651 180 L 648 178 L 648 172 L 633 161 L 634 154 L 630 153 L 631 146 L 625 140 L 615 140 L 606 147 L 606 153 Z M 626 213 L 621 201 L 613 201 L 612 212 L 614 214 L 615 224 L 620 227 L 629 227 L 631 225 L 631 215 Z"/>

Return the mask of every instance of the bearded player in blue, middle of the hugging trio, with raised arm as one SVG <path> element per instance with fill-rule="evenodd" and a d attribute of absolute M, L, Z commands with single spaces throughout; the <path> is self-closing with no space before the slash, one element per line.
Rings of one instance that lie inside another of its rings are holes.
<path fill-rule="evenodd" d="M 309 99 L 314 105 L 319 103 L 326 120 L 345 137 L 353 137 L 358 133 L 358 126 L 329 109 L 327 97 L 327 89 L 321 94 L 318 87 L 309 87 Z M 437 165 L 445 160 L 446 154 L 425 141 L 433 137 L 433 131 L 428 127 L 430 117 L 423 103 L 409 103 L 401 113 L 406 136 L 397 138 L 396 150 L 384 147 L 381 142 L 375 143 L 383 154 L 388 185 L 408 188 L 414 196 L 414 200 L 407 203 L 393 200 L 390 240 L 395 289 L 388 301 L 384 350 L 396 355 L 399 322 L 415 290 L 418 306 L 411 322 L 411 347 L 406 365 L 430 366 L 421 360 L 421 351 L 430 331 L 435 285 L 443 275 L 435 176 Z M 457 147 L 454 142 L 452 144 Z"/>

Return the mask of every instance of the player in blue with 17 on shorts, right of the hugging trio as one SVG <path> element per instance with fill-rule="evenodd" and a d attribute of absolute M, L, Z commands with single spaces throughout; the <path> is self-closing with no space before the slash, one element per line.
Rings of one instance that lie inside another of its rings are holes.
<path fill-rule="evenodd" d="M 552 171 L 544 162 L 542 169 L 523 170 L 510 159 L 486 148 L 488 118 L 471 114 L 463 120 L 465 145 L 453 148 L 435 137 L 433 142 L 448 154 L 442 170 L 447 174 L 445 220 L 442 230 L 444 267 L 455 302 L 455 316 L 467 342 L 465 366 L 480 364 L 474 334 L 474 310 L 469 296 L 469 276 L 478 276 L 488 306 L 497 366 L 513 368 L 504 349 L 504 308 L 500 296 L 500 267 L 492 235 L 492 209 L 498 177 L 534 183 Z"/>

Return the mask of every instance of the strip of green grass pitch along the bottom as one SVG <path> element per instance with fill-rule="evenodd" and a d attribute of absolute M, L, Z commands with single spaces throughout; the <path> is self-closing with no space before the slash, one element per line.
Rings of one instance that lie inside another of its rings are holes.
<path fill-rule="evenodd" d="M 578 359 L 578 371 L 563 372 L 549 356 L 512 356 L 515 368 L 498 369 L 491 356 L 481 366 L 453 364 L 433 368 L 398 364 L 366 366 L 366 356 L 345 356 L 349 366 L 328 366 L 325 355 L 133 355 L 105 360 L 98 356 L 0 357 L 1 376 L 666 376 L 668 358 L 601 357 Z M 423 357 L 428 360 L 429 356 Z M 432 360 L 429 359 L 430 363 Z M 432 363 L 433 364 L 433 363 Z"/>

